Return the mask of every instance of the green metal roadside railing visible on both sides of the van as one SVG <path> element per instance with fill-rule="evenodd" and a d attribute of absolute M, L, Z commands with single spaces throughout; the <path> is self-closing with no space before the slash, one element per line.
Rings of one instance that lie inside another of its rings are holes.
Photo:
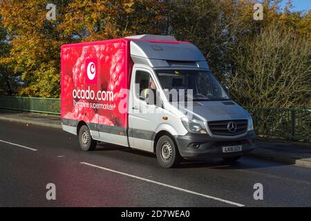
<path fill-rule="evenodd" d="M 0 108 L 60 114 L 60 99 L 0 96 Z M 311 110 L 298 108 L 245 108 L 252 115 L 256 135 L 311 142 Z"/>

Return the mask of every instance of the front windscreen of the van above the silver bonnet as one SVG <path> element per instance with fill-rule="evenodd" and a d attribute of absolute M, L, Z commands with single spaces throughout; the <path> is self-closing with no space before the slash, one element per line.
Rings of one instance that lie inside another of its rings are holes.
<path fill-rule="evenodd" d="M 157 70 L 165 92 L 184 90 L 194 101 L 226 100 L 229 96 L 218 80 L 207 70 Z M 189 90 L 192 90 L 189 93 Z"/>

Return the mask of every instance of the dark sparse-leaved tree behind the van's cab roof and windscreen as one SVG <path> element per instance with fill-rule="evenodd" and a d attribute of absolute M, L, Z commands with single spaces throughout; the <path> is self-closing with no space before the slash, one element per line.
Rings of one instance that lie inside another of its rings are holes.
<path fill-rule="evenodd" d="M 169 34 L 198 46 L 220 80 L 232 75 L 232 53 L 241 39 L 261 28 L 253 19 L 252 1 L 172 0 L 171 6 Z"/>

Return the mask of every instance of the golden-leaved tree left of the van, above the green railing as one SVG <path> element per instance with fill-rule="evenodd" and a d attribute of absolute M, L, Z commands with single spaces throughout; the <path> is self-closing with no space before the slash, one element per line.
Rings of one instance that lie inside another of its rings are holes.
<path fill-rule="evenodd" d="M 59 1 L 59 3 L 66 1 Z M 7 63 L 23 81 L 18 94 L 59 97 L 59 50 L 62 44 L 57 22 L 46 19 L 45 1 L 1 1 L 3 26 L 8 30 Z"/>

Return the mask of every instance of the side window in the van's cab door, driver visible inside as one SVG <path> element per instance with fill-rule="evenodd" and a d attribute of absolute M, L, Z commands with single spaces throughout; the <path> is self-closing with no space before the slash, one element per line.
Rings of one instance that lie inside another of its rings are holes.
<path fill-rule="evenodd" d="M 149 73 L 138 70 L 135 76 L 135 94 L 140 99 L 147 98 L 151 76 Z"/>

